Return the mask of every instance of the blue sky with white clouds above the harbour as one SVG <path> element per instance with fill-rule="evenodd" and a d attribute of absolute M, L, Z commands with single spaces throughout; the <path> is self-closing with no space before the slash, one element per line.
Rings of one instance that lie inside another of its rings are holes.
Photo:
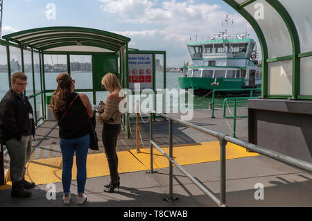
<path fill-rule="evenodd" d="M 49 3 L 55 19 L 47 16 Z M 2 35 L 48 26 L 96 28 L 129 37 L 130 48 L 166 51 L 167 67 L 183 67 L 191 60 L 190 39 L 223 31 L 226 15 L 232 19 L 229 33 L 247 31 L 259 42 L 250 24 L 222 0 L 3 0 Z"/>

